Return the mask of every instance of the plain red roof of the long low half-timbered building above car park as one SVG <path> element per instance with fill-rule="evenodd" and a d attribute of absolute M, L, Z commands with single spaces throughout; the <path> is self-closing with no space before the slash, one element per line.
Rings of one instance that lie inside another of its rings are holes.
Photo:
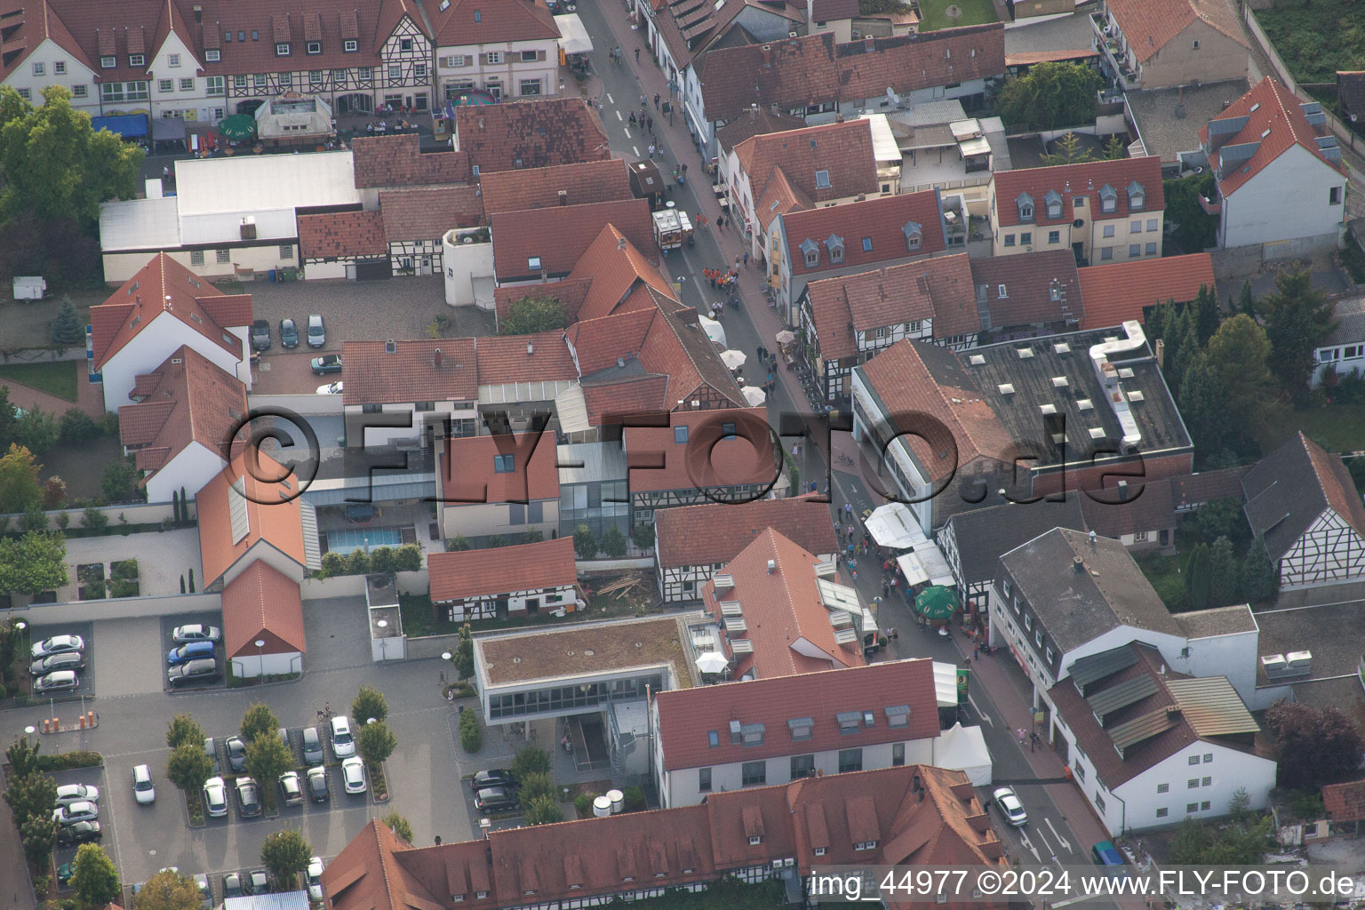
<path fill-rule="evenodd" d="M 573 538 L 491 550 L 433 553 L 427 557 L 427 569 L 431 572 L 431 600 L 435 603 L 579 583 Z"/>

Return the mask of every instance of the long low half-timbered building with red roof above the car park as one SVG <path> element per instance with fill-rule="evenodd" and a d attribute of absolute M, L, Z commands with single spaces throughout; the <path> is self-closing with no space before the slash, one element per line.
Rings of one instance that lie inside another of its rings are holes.
<path fill-rule="evenodd" d="M 433 553 L 427 568 L 437 619 L 448 622 L 572 613 L 583 603 L 572 538 Z"/>

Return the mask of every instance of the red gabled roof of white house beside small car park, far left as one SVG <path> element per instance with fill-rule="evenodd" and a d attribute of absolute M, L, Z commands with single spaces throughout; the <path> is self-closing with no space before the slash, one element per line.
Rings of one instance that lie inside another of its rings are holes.
<path fill-rule="evenodd" d="M 158 318 L 179 319 L 240 360 L 243 342 L 225 330 L 251 325 L 251 295 L 225 295 L 158 252 L 104 303 L 90 307 L 96 367 Z"/>

